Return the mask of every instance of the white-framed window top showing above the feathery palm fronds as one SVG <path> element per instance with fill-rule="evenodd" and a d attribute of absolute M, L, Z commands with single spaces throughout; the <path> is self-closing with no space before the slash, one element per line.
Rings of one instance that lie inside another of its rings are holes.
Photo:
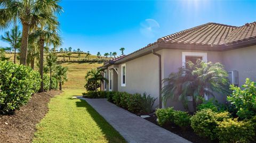
<path fill-rule="evenodd" d="M 188 61 L 195 63 L 198 58 L 207 62 L 207 53 L 182 52 L 182 66 L 186 66 L 185 64 Z"/>

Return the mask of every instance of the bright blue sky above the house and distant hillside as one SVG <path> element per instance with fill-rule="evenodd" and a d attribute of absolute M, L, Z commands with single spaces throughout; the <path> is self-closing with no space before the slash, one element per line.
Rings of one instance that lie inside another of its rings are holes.
<path fill-rule="evenodd" d="M 129 54 L 171 33 L 207 22 L 256 21 L 256 1 L 62 1 L 63 48 Z M 3 31 L 0 31 L 3 34 Z M 0 41 L 0 46 L 7 46 Z"/>

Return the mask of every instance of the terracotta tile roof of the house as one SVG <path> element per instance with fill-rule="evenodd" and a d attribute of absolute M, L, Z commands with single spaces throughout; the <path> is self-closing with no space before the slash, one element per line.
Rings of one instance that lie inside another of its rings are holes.
<path fill-rule="evenodd" d="M 205 47 L 225 47 L 244 41 L 256 40 L 256 22 L 246 23 L 244 26 L 235 27 L 219 23 L 206 23 L 201 26 L 183 30 L 172 35 L 159 38 L 155 43 L 148 44 L 128 55 L 113 58 L 107 63 L 129 57 L 156 44 L 175 45 L 200 45 Z M 106 64 L 106 63 L 105 63 Z"/>

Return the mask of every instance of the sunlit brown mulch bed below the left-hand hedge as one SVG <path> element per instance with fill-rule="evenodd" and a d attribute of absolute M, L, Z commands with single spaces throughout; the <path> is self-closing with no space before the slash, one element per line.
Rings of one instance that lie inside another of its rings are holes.
<path fill-rule="evenodd" d="M 31 142 L 36 124 L 48 112 L 47 104 L 60 92 L 51 90 L 35 94 L 19 111 L 12 115 L 0 115 L 0 142 Z"/>

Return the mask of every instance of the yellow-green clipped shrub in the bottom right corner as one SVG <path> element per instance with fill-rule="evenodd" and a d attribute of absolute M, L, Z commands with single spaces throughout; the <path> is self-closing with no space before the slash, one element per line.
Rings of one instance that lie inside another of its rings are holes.
<path fill-rule="evenodd" d="M 254 136 L 253 124 L 237 119 L 227 119 L 218 122 L 217 136 L 220 142 L 250 142 Z"/>

